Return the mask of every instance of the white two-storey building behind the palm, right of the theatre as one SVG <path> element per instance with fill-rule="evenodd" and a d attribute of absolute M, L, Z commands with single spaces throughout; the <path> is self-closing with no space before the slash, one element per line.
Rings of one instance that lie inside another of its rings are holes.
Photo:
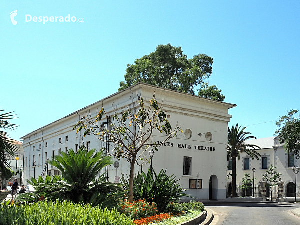
<path fill-rule="evenodd" d="M 259 146 L 261 149 L 257 149 L 260 153 L 261 158 L 257 160 L 252 159 L 246 153 L 240 154 L 240 160 L 236 161 L 236 184 L 241 184 L 241 180 L 245 173 L 250 173 L 251 179 L 255 176 L 255 185 L 258 185 L 259 181 L 262 179 L 263 174 L 266 173 L 270 165 L 276 167 L 276 171 L 281 173 L 280 176 L 283 184 L 283 196 L 293 197 L 295 192 L 295 174 L 293 173 L 292 167 L 299 164 L 299 160 L 296 159 L 294 154 L 289 154 L 286 152 L 283 144 L 280 143 L 279 137 L 266 137 L 259 139 L 249 139 L 245 142 L 246 144 L 254 144 Z M 227 174 L 231 173 L 231 162 L 228 161 Z M 255 168 L 255 173 L 253 174 L 253 168 Z M 297 177 L 297 187 L 300 184 L 300 177 Z M 230 185 L 231 178 L 227 180 L 227 184 Z M 227 192 L 228 192 L 227 188 Z M 299 191 L 297 190 L 297 193 Z M 228 194 L 228 193 L 227 193 Z M 256 190 L 255 190 L 256 195 Z"/>

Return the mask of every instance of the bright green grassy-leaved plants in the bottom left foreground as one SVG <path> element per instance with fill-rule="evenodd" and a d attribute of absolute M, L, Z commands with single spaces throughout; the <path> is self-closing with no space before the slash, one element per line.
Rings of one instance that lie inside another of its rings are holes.
<path fill-rule="evenodd" d="M 69 201 L 46 202 L 15 205 L 0 204 L 0 224 L 3 225 L 133 225 L 133 220 L 116 209 L 101 210 L 91 205 L 80 205 Z"/>

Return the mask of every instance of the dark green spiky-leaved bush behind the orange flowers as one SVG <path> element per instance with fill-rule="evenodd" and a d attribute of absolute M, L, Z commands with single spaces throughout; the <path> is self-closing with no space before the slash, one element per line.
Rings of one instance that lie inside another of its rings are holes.
<path fill-rule="evenodd" d="M 180 187 L 179 181 L 173 175 L 168 176 L 166 170 L 161 169 L 159 174 L 148 169 L 148 173 L 138 173 L 133 180 L 133 199 L 145 199 L 147 202 L 155 202 L 158 212 L 166 211 L 169 203 L 179 202 L 182 197 L 190 197 L 183 193 L 185 189 Z M 127 180 L 122 179 L 124 185 L 129 189 Z"/>

